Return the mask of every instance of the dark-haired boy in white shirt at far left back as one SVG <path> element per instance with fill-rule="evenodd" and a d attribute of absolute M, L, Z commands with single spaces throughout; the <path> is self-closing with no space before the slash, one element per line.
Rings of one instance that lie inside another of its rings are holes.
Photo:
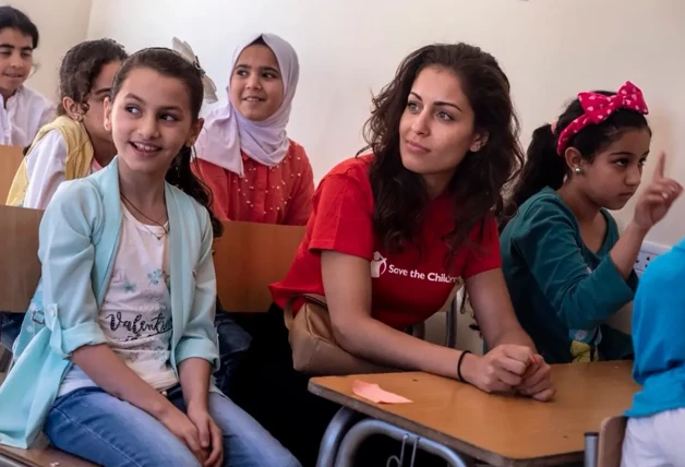
<path fill-rule="evenodd" d="M 0 144 L 27 147 L 38 130 L 55 119 L 55 104 L 24 86 L 38 37 L 28 16 L 0 7 Z"/>

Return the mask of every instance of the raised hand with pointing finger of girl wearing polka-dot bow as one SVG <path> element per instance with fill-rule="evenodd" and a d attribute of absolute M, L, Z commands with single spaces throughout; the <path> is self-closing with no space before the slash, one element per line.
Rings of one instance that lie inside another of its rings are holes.
<path fill-rule="evenodd" d="M 673 202 L 683 193 L 683 187 L 677 181 L 664 176 L 665 159 L 665 154 L 661 153 L 652 181 L 635 205 L 633 223 L 645 232 L 664 218 Z"/>

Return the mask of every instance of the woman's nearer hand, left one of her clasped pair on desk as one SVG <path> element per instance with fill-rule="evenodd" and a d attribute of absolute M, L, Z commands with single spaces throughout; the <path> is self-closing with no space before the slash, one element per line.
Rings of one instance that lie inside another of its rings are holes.
<path fill-rule="evenodd" d="M 522 382 L 533 355 L 530 347 L 502 344 L 482 357 L 464 356 L 461 375 L 467 383 L 485 393 L 513 392 Z"/>

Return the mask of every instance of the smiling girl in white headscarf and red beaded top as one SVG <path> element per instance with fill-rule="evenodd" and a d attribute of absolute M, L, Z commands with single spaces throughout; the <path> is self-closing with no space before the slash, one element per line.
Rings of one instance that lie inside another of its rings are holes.
<path fill-rule="evenodd" d="M 274 34 L 236 50 L 228 103 L 207 116 L 195 144 L 197 169 L 221 219 L 303 226 L 314 176 L 286 125 L 298 86 L 298 56 Z"/>

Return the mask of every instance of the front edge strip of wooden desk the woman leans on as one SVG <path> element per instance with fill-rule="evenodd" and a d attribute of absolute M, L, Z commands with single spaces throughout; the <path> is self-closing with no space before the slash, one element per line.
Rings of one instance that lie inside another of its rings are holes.
<path fill-rule="evenodd" d="M 377 407 L 371 402 L 365 402 L 357 396 L 345 395 L 338 393 L 336 391 L 332 391 L 327 387 L 321 386 L 316 383 L 316 378 L 312 378 L 309 381 L 308 390 L 310 393 L 315 396 L 323 397 L 324 399 L 328 399 L 340 406 L 348 407 L 359 414 L 363 414 L 368 417 L 374 418 L 376 420 L 385 421 L 387 423 L 394 424 L 404 430 L 408 430 L 412 433 L 425 432 L 428 438 L 431 441 L 436 443 L 444 444 L 453 450 L 455 450 L 459 454 L 465 454 L 470 457 L 474 457 L 478 460 L 482 460 L 489 463 L 495 467 L 524 467 L 524 466 L 540 466 L 540 465 L 560 465 L 567 463 L 577 463 L 581 462 L 584 457 L 584 452 L 573 452 L 566 454 L 558 454 L 546 457 L 536 457 L 528 459 L 520 458 L 509 458 L 505 457 L 502 454 L 493 453 L 491 451 L 483 450 L 482 447 L 474 446 L 465 441 L 448 436 L 440 431 L 435 431 L 433 429 L 426 428 L 422 424 L 417 423 L 416 421 L 408 420 L 399 415 L 392 414 L 394 420 L 388 421 L 388 412 Z"/>

